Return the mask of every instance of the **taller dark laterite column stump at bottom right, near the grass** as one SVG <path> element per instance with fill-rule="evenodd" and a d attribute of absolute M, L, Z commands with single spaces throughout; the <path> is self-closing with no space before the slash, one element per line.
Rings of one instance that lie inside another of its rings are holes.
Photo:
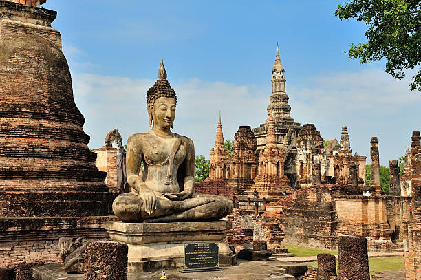
<path fill-rule="evenodd" d="M 370 280 L 365 237 L 339 237 L 338 255 L 338 280 Z"/>

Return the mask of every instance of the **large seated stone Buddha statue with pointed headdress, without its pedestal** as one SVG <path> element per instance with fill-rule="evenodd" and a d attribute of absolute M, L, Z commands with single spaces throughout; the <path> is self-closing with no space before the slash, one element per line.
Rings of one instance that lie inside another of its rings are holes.
<path fill-rule="evenodd" d="M 114 214 L 123 222 L 213 221 L 233 210 L 226 197 L 193 193 L 193 141 L 171 132 L 176 101 L 161 60 L 158 80 L 147 91 L 152 129 L 127 140 L 126 173 L 132 192 L 113 202 Z"/>

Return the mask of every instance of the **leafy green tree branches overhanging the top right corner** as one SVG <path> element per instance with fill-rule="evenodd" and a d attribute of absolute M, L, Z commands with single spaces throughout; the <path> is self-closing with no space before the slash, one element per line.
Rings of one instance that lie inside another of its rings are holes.
<path fill-rule="evenodd" d="M 406 69 L 418 69 L 411 90 L 421 91 L 421 1 L 420 0 L 349 0 L 338 5 L 335 15 L 356 19 L 367 26 L 367 43 L 351 44 L 345 52 L 360 63 L 386 58 L 386 72 L 401 80 Z"/>

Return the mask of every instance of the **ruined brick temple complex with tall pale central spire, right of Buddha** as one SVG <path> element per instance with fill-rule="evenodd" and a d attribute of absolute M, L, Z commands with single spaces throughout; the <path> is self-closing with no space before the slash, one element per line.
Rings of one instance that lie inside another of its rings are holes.
<path fill-rule="evenodd" d="M 268 184 L 267 174 L 280 174 L 283 177 L 282 180 L 280 177 L 276 179 L 281 180 L 279 183 L 274 181 L 270 183 L 272 189 L 277 189 L 274 193 L 283 195 L 303 186 L 320 184 L 363 186 L 366 157 L 357 153 L 352 155 L 347 127 L 342 128 L 340 143 L 335 139 L 325 143 L 314 124 L 301 126 L 294 122 L 290 116 L 291 107 L 288 105 L 289 97 L 285 92 L 285 82 L 285 69 L 277 45 L 272 68 L 272 94 L 266 122 L 255 129 L 240 126 L 234 137 L 233 155 L 229 158 L 228 151 L 224 149 L 219 118 L 215 146 L 210 151 L 209 179 L 225 180 L 229 188 L 239 197 L 247 197 L 253 193 L 259 195 L 258 189 L 261 189 L 262 184 Z M 274 136 L 269 137 L 271 143 L 268 146 L 266 141 L 270 118 Z M 276 152 L 274 146 L 279 148 Z M 274 162 L 273 168 L 276 171 L 272 171 L 272 167 L 268 169 L 267 162 Z M 285 180 L 285 176 L 288 180 Z M 284 186 L 285 182 L 288 182 L 288 187 Z M 263 197 L 269 198 L 270 195 L 266 193 Z"/>

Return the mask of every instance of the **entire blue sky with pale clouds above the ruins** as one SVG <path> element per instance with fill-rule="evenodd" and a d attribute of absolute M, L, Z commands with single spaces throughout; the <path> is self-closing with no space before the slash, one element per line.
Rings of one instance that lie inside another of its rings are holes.
<path fill-rule="evenodd" d="M 124 142 L 149 129 L 145 95 L 164 58 L 178 98 L 173 131 L 208 158 L 219 110 L 231 140 L 239 125 L 266 119 L 279 41 L 292 118 L 314 123 L 326 140 L 339 140 L 347 125 L 359 155 L 369 156 L 378 136 L 380 164 L 388 166 L 421 129 L 421 94 L 385 74 L 384 61 L 347 58 L 366 27 L 334 17 L 341 2 L 49 0 L 43 7 L 58 11 L 53 27 L 63 36 L 91 149 L 111 129 Z"/>

